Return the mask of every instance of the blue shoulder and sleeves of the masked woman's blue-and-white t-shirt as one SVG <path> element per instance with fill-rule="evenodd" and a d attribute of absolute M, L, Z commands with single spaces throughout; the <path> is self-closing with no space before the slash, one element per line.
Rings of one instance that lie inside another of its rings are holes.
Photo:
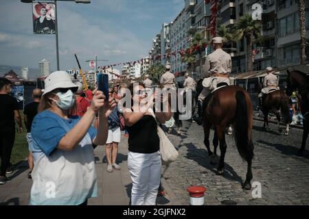
<path fill-rule="evenodd" d="M 43 152 L 47 157 L 56 149 L 60 140 L 67 134 L 65 128 L 57 121 L 59 116 L 49 110 L 45 110 L 34 117 L 32 122 L 31 134 L 32 140 L 38 145 L 33 149 L 33 153 Z M 73 116 L 69 120 L 61 118 L 71 129 L 79 122 L 79 116 Z M 97 135 L 97 130 L 90 127 L 88 133 L 91 140 Z"/>

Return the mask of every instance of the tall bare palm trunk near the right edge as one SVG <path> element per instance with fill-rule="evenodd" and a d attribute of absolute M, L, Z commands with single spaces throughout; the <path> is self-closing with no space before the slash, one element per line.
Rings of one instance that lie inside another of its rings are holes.
<path fill-rule="evenodd" d="M 305 18 L 305 1 L 299 0 L 298 1 L 298 14 L 299 14 L 299 32 L 301 38 L 301 64 L 305 64 L 307 57 L 306 57 L 306 18 Z"/>

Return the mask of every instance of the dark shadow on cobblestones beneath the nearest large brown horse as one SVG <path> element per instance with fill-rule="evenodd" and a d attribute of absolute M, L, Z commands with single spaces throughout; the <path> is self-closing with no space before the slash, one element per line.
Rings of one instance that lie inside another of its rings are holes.
<path fill-rule="evenodd" d="M 211 172 L 217 173 L 216 168 L 218 165 L 214 166 L 210 164 L 210 159 L 208 156 L 208 152 L 206 149 L 197 149 L 196 146 L 192 143 L 185 144 L 187 147 L 187 159 L 192 159 L 198 165 L 201 165 L 208 170 L 211 170 Z M 247 166 L 247 163 L 245 163 Z M 233 180 L 233 181 L 238 181 L 240 184 L 242 184 L 242 177 L 240 177 L 235 170 L 229 166 L 229 164 L 225 163 L 225 174 L 222 177 L 225 177 L 227 180 Z"/>

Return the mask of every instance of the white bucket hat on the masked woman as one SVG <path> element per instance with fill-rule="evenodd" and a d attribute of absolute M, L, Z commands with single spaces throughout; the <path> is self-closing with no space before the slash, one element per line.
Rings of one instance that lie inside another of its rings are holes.
<path fill-rule="evenodd" d="M 43 96 L 57 88 L 72 88 L 73 92 L 78 90 L 76 83 L 73 83 L 71 77 L 64 70 L 58 70 L 50 74 L 44 81 L 45 89 Z"/>

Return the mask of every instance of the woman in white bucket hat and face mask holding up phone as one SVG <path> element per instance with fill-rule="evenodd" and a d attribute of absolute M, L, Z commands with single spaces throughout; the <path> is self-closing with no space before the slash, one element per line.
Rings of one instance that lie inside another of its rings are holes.
<path fill-rule="evenodd" d="M 34 170 L 30 205 L 87 205 L 97 196 L 93 148 L 104 145 L 106 118 L 116 103 L 105 102 L 97 91 L 82 116 L 70 116 L 76 109 L 73 92 L 78 86 L 65 71 L 45 79 L 45 90 L 32 123 Z M 99 114 L 98 131 L 91 124 Z"/>

